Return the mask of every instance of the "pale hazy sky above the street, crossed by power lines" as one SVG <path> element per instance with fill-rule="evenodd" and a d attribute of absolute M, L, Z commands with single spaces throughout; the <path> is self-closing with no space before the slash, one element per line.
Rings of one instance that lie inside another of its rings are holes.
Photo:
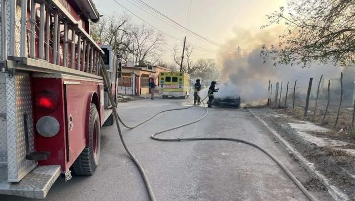
<path fill-rule="evenodd" d="M 183 39 L 187 36 L 187 42 L 198 45 L 203 48 L 215 49 L 220 51 L 219 47 L 201 41 L 186 32 L 171 27 L 169 24 L 144 12 L 132 4 L 132 0 L 117 0 L 120 4 L 130 11 L 153 24 L 163 32 Z M 187 27 L 191 31 L 207 37 L 218 43 L 225 44 L 226 41 L 237 38 L 239 30 L 251 32 L 260 32 L 260 26 L 266 24 L 266 15 L 278 10 L 281 6 L 286 6 L 286 0 L 143 0 L 145 3 L 159 10 L 176 22 Z M 188 15 L 188 6 L 191 2 L 191 10 Z M 120 14 L 125 12 L 113 0 L 94 0 L 98 10 L 106 15 L 113 13 Z M 143 23 L 140 19 L 132 16 L 136 23 Z M 240 40 L 240 39 L 238 39 Z M 241 40 L 243 41 L 243 40 Z M 183 42 L 166 36 L 166 52 L 162 55 L 164 61 L 172 62 L 171 49 L 178 45 L 182 48 Z M 238 44 L 241 48 L 250 48 L 247 44 Z M 237 46 L 235 47 L 237 48 Z M 216 58 L 220 54 L 210 51 L 201 51 L 194 48 L 193 57 L 198 58 Z"/>

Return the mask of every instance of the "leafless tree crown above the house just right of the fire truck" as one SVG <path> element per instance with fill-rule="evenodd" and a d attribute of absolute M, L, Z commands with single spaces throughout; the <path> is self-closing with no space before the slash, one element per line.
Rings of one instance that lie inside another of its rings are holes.
<path fill-rule="evenodd" d="M 102 17 L 100 22 L 92 24 L 94 40 L 111 45 L 123 63 L 132 61 L 132 58 L 140 65 L 155 63 L 164 44 L 164 34 L 145 24 L 132 24 L 130 20 L 125 13 Z"/>

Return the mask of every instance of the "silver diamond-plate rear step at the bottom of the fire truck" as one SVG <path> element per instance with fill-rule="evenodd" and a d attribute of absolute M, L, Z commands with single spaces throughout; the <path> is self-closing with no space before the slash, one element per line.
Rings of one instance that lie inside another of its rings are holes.
<path fill-rule="evenodd" d="M 60 173 L 60 165 L 37 166 L 20 182 L 9 183 L 7 166 L 0 166 L 0 194 L 44 199 Z"/>

